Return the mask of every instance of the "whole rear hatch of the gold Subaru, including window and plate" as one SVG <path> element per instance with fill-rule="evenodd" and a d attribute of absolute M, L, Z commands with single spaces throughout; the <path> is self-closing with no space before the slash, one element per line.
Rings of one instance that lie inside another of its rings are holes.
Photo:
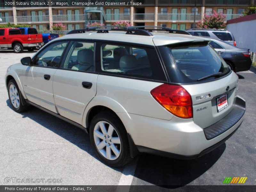
<path fill-rule="evenodd" d="M 191 95 L 193 121 L 206 128 L 233 109 L 238 77 L 204 42 L 159 46 L 170 84 L 181 84 Z"/>

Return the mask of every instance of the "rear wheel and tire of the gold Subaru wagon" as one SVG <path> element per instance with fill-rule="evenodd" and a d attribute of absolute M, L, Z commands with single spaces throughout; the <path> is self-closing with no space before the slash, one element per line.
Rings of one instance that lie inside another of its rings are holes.
<path fill-rule="evenodd" d="M 127 132 L 116 114 L 98 113 L 92 118 L 89 132 L 92 146 L 102 162 L 120 167 L 130 161 Z"/>

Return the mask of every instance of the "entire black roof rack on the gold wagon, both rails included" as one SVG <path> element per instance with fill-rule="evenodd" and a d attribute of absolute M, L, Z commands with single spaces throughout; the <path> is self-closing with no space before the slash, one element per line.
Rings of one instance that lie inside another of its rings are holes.
<path fill-rule="evenodd" d="M 85 33 L 89 31 L 97 31 L 97 33 L 108 33 L 109 31 L 126 31 L 126 34 L 132 35 L 143 35 L 143 36 L 153 36 L 150 32 L 153 31 L 168 31 L 169 33 L 190 35 L 186 31 L 173 30 L 167 27 L 158 26 L 99 26 L 99 27 L 86 27 L 85 29 L 76 29 L 69 31 L 67 34 Z"/>

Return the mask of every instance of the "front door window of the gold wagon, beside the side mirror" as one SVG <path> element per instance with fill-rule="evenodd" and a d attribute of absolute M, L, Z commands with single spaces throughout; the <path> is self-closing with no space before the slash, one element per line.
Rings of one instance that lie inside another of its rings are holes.
<path fill-rule="evenodd" d="M 68 44 L 68 41 L 56 42 L 45 47 L 33 59 L 33 65 L 41 67 L 56 67 L 60 65 L 61 56 Z"/>

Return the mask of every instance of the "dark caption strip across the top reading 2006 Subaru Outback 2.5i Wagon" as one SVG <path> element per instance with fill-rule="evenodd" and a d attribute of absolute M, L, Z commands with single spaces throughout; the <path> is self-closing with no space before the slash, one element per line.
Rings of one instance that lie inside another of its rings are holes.
<path fill-rule="evenodd" d="M 1 7 L 247 7 L 252 0 L 1 0 Z"/>

